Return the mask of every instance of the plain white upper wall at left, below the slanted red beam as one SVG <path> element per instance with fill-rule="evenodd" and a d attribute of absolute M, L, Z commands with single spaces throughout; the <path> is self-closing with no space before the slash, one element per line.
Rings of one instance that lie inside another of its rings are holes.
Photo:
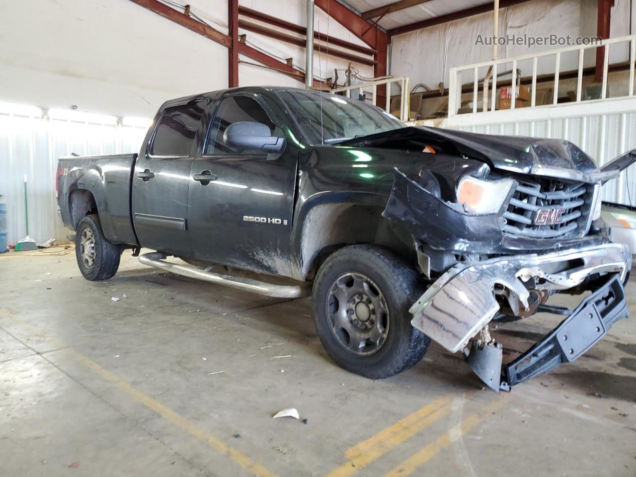
<path fill-rule="evenodd" d="M 128 0 L 0 0 L 0 12 L 0 100 L 148 118 L 227 85 L 225 47 Z"/>

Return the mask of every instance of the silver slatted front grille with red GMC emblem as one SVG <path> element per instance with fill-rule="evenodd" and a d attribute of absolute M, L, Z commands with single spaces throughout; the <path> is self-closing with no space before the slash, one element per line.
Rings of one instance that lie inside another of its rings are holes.
<path fill-rule="evenodd" d="M 555 179 L 519 181 L 504 212 L 504 232 L 532 239 L 553 239 L 581 232 L 590 214 L 593 188 Z M 537 225 L 537 213 L 558 212 L 559 223 Z"/>

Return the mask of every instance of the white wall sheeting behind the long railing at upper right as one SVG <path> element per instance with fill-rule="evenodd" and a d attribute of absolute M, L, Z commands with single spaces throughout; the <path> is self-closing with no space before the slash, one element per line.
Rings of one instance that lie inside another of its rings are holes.
<path fill-rule="evenodd" d="M 633 0 L 616 0 L 611 10 L 611 37 L 630 34 L 630 9 L 635 10 Z M 631 15 L 632 23 L 635 15 Z M 502 8 L 499 12 L 499 35 L 596 36 L 597 0 L 534 0 L 516 6 Z M 451 67 L 464 66 L 492 59 L 492 46 L 475 45 L 478 34 L 492 36 L 492 13 L 482 13 L 443 25 L 420 29 L 394 36 L 392 39 L 391 73 L 410 76 L 411 85 L 425 83 L 436 89 L 443 81 L 448 87 L 448 71 Z M 526 55 L 532 52 L 553 50 L 558 46 L 499 46 L 499 58 Z M 626 61 L 626 45 L 610 48 L 611 63 Z M 576 69 L 576 54 L 562 55 L 560 71 Z M 595 53 L 588 52 L 585 66 L 595 64 Z M 508 65 L 511 67 L 511 65 Z M 518 64 L 523 76 L 532 74 L 532 62 Z M 553 73 L 555 59 L 539 60 L 537 72 Z M 508 68 L 509 69 L 509 68 Z M 485 73 L 485 71 L 484 71 Z M 463 82 L 473 78 L 462 78 Z"/>

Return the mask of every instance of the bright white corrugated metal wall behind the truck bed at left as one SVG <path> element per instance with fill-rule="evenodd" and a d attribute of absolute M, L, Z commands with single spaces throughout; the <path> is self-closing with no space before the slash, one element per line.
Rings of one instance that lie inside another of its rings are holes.
<path fill-rule="evenodd" d="M 26 235 L 24 176 L 27 177 L 29 235 L 36 242 L 66 240 L 57 218 L 57 158 L 139 151 L 145 128 L 40 120 L 0 114 L 0 195 L 7 204 L 8 243 Z"/>

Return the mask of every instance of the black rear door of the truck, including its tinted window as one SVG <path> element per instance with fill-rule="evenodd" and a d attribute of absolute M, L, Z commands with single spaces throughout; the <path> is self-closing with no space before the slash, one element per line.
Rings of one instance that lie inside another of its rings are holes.
<path fill-rule="evenodd" d="M 165 107 L 132 176 L 132 214 L 142 247 L 188 255 L 188 188 L 207 99 Z"/>

